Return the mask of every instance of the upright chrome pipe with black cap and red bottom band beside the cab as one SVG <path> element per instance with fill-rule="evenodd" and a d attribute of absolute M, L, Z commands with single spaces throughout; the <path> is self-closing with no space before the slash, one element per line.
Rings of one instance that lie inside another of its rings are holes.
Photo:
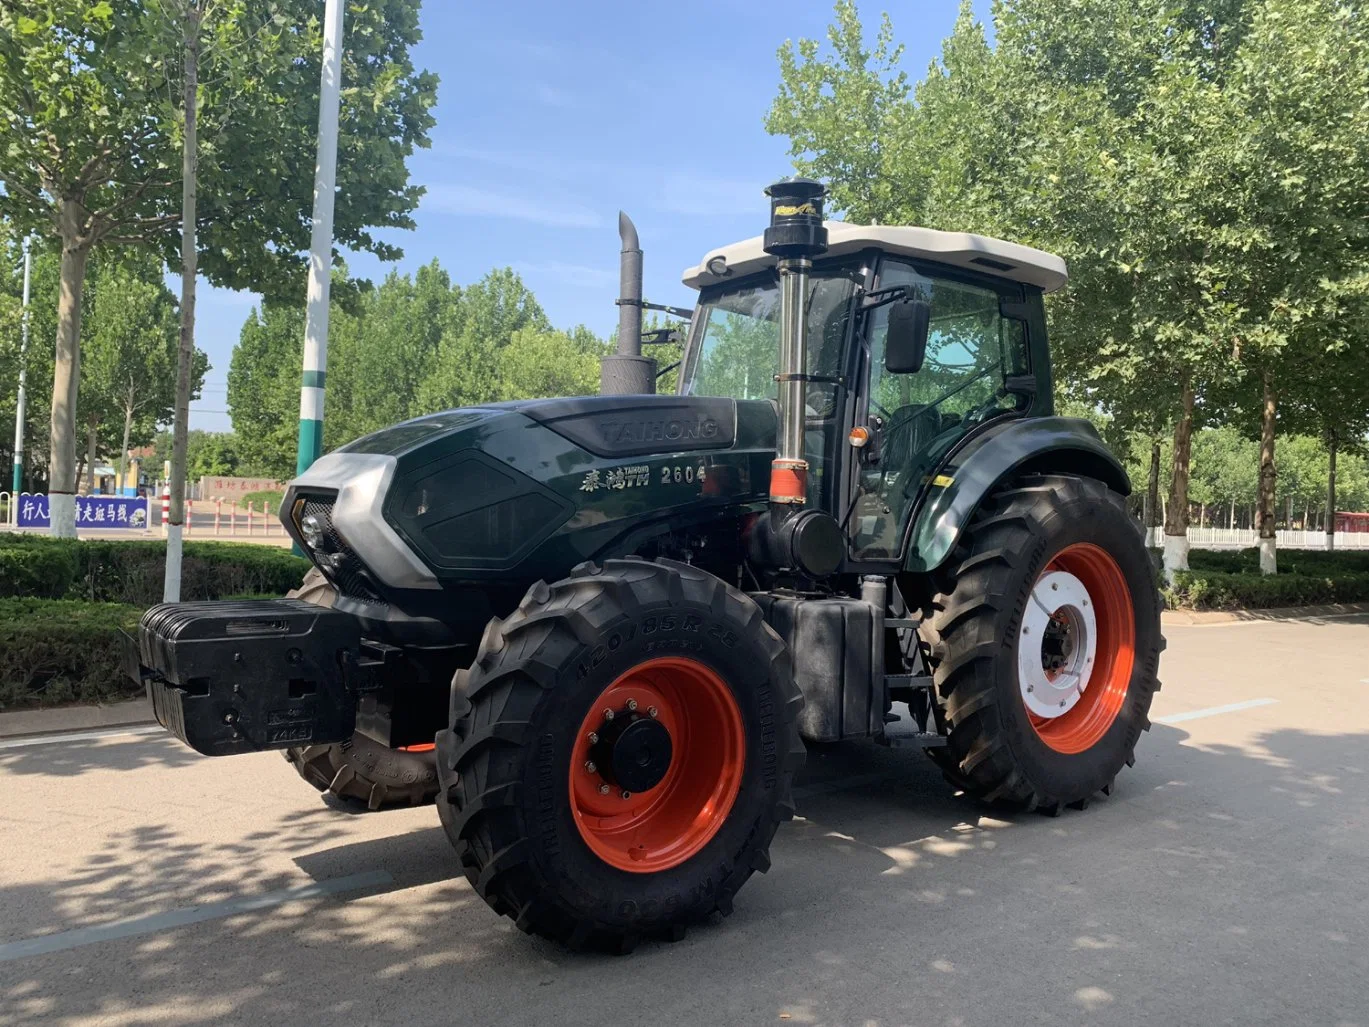
<path fill-rule="evenodd" d="M 804 408 L 808 396 L 808 272 L 827 251 L 823 197 L 812 178 L 786 178 L 765 189 L 771 223 L 765 252 L 779 257 L 779 445 L 771 463 L 771 503 L 802 505 L 808 498 Z"/>

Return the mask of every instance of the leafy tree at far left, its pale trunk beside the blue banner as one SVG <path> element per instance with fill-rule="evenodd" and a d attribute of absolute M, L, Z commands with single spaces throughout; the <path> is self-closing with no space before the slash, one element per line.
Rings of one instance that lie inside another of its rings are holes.
<path fill-rule="evenodd" d="M 208 3 L 209 0 L 207 0 Z M 183 5 L 183 4 L 182 4 Z M 160 4 L 157 5 L 160 10 Z M 201 8 L 204 5 L 200 5 Z M 308 0 L 215 4 L 196 111 L 205 121 L 196 227 L 200 271 L 230 288 L 298 294 L 312 201 L 319 25 Z M 170 10 L 170 8 L 167 8 Z M 141 0 L 0 5 L 0 216 L 60 240 L 52 403 L 53 531 L 74 533 L 74 416 L 81 289 L 89 255 L 115 242 L 181 244 L 182 47 Z M 352 7 L 335 238 L 382 257 L 371 227 L 409 227 L 420 190 L 405 159 L 426 144 L 435 79 L 408 59 L 418 5 Z M 211 140 L 212 121 L 212 140 Z"/>

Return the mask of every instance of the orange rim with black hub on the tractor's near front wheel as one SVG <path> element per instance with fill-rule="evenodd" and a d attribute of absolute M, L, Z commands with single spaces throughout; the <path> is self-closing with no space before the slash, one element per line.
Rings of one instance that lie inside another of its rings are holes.
<path fill-rule="evenodd" d="M 727 682 L 697 660 L 646 660 L 604 689 L 580 722 L 570 765 L 575 827 L 617 870 L 678 867 L 726 823 L 745 765 L 746 731 Z M 657 774 L 649 787 L 624 787 Z"/>

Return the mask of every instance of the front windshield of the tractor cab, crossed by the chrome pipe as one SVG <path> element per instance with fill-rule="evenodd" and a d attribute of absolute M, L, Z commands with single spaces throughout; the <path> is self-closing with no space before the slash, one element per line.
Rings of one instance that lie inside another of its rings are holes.
<path fill-rule="evenodd" d="M 808 283 L 808 374 L 842 374 L 842 346 L 852 297 L 862 281 L 857 267 L 815 271 Z M 734 400 L 776 398 L 779 386 L 779 275 L 771 272 L 701 297 L 694 340 L 680 375 L 682 396 Z M 830 383 L 808 389 L 809 416 L 826 416 L 835 398 Z"/>

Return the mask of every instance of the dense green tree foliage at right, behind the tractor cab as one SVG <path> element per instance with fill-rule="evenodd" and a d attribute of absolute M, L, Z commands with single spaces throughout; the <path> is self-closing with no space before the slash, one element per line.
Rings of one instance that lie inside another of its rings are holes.
<path fill-rule="evenodd" d="M 826 48 L 787 44 L 767 127 L 856 220 L 1065 256 L 1071 285 L 1047 305 L 1062 400 L 1143 438 L 1147 461 L 1151 441 L 1170 437 L 1168 479 L 1190 466 L 1191 427 L 1258 434 L 1262 408 L 1292 430 L 1364 438 L 1361 11 L 1002 0 L 990 42 L 967 4 L 912 88 L 888 19 L 865 38 L 841 0 Z M 1202 456 L 1194 489 L 1206 487 Z M 1268 460 L 1265 471 L 1269 489 Z M 1181 534 L 1188 490 L 1173 483 L 1168 530 Z"/>

